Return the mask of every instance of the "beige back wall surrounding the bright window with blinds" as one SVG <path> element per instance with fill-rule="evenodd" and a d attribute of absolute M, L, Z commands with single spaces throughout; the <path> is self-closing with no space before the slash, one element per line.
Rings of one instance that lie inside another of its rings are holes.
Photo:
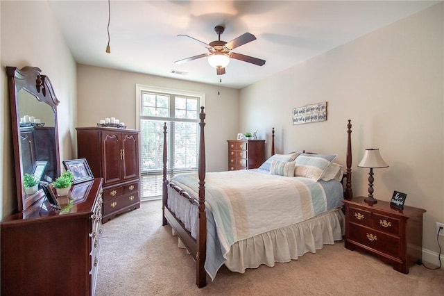
<path fill-rule="evenodd" d="M 205 93 L 207 172 L 227 170 L 227 140 L 239 131 L 239 90 L 160 76 L 78 65 L 78 126 L 116 117 L 136 128 L 136 84 Z M 212 157 L 213 156 L 213 157 Z"/>

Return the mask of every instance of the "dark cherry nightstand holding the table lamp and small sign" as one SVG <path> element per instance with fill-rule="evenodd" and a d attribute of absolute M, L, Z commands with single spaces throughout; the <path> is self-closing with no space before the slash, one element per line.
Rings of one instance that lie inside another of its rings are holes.
<path fill-rule="evenodd" d="M 375 254 L 393 269 L 409 273 L 422 260 L 422 208 L 393 208 L 390 202 L 369 205 L 364 197 L 344 201 L 345 247 Z"/>

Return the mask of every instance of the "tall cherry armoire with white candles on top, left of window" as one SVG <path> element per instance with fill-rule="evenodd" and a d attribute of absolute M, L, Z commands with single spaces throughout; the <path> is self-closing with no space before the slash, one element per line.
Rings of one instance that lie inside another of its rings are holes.
<path fill-rule="evenodd" d="M 140 207 L 139 131 L 78 127 L 78 158 L 103 178 L 102 222 Z"/>

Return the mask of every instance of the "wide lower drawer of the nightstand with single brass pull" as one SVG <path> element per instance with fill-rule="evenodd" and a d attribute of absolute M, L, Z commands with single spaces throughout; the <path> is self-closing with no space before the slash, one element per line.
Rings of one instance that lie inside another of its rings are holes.
<path fill-rule="evenodd" d="M 400 258 L 400 238 L 356 224 L 350 224 L 349 226 L 350 240 L 395 258 Z"/>

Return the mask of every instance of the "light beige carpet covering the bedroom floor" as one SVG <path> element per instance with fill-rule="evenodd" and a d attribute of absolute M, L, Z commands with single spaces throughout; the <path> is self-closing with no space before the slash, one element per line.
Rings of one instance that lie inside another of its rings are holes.
<path fill-rule="evenodd" d="M 162 202 L 102 225 L 96 295 L 444 295 L 444 270 L 414 265 L 402 274 L 375 256 L 353 252 L 343 241 L 297 261 L 261 265 L 244 274 L 219 270 L 197 288 L 193 258 L 162 226 Z"/>

